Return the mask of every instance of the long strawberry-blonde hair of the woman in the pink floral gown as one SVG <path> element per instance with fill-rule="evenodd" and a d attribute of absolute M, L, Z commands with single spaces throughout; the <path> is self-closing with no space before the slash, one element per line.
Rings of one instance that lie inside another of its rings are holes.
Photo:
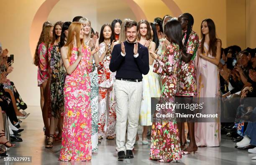
<path fill-rule="evenodd" d="M 80 39 L 80 28 L 81 28 L 82 23 L 79 22 L 73 22 L 69 26 L 69 33 L 67 36 L 67 43 L 64 46 L 68 47 L 68 53 L 67 57 L 70 59 L 71 57 L 71 52 L 73 48 L 73 41 L 74 41 L 74 33 L 76 33 L 76 39 L 77 39 L 77 48 L 80 48 L 80 46 L 83 44 L 83 39 Z"/>

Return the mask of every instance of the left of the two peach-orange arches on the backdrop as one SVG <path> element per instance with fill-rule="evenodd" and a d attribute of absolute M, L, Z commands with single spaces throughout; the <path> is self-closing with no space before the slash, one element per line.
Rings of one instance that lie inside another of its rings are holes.
<path fill-rule="evenodd" d="M 58 2 L 59 0 L 45 0 L 33 18 L 29 34 L 29 46 L 32 58 L 36 50 L 36 44 L 42 30 L 42 25 L 47 20 L 51 10 Z M 131 8 L 137 20 L 146 19 L 145 13 L 136 2 L 133 0 L 125 0 L 125 2 Z"/>

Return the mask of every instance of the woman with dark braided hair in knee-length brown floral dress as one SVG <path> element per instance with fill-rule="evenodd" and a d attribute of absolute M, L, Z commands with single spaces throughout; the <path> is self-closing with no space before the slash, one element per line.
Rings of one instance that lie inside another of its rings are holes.
<path fill-rule="evenodd" d="M 194 18 L 189 13 L 184 13 L 179 16 L 179 22 L 182 25 L 183 33 L 183 53 L 182 53 L 182 62 L 179 67 L 179 89 L 176 94 L 178 97 L 193 97 L 197 96 L 197 84 L 196 84 L 196 70 L 195 70 L 195 62 L 194 57 L 197 51 L 197 47 L 199 44 L 199 37 L 197 33 L 192 30 L 194 24 Z M 182 99 L 185 104 L 191 103 L 192 99 Z M 178 122 L 179 130 L 182 131 L 184 127 L 184 121 L 181 120 Z M 197 145 L 195 142 L 195 123 L 189 122 L 189 137 L 190 142 L 189 146 L 182 152 L 183 154 L 189 154 L 191 152 L 195 152 L 197 150 Z M 182 144 L 182 132 L 179 134 L 179 138 Z M 184 137 L 185 138 L 185 137 Z M 184 147 L 184 145 L 182 145 Z"/>

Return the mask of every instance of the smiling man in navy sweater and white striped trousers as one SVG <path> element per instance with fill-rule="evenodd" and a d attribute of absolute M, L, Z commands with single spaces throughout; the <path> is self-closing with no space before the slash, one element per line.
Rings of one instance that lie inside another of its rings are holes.
<path fill-rule="evenodd" d="M 110 71 L 116 71 L 114 91 L 118 160 L 133 158 L 132 150 L 138 129 L 143 93 L 142 74 L 146 75 L 149 71 L 148 48 L 136 41 L 137 26 L 138 24 L 133 20 L 125 23 L 127 40 L 114 46 L 109 65 Z M 125 144 L 127 119 L 127 142 Z"/>

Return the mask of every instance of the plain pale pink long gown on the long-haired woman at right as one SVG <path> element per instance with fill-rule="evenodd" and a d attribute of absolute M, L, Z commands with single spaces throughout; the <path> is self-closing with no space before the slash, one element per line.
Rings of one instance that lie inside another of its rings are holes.
<path fill-rule="evenodd" d="M 209 46 L 204 43 L 205 52 L 208 52 Z M 205 54 L 204 54 L 205 55 Z M 208 57 L 212 57 L 210 53 Z M 197 93 L 198 97 L 217 97 L 220 98 L 220 78 L 218 66 L 203 58 L 196 59 L 197 63 Z M 212 99 L 213 100 L 213 99 Z M 211 99 L 208 99 L 210 104 Z M 206 105 L 206 104 L 205 104 Z M 210 106 L 207 113 L 220 110 L 220 102 Z M 220 121 L 195 123 L 195 140 L 197 146 L 216 147 L 220 145 Z"/>

